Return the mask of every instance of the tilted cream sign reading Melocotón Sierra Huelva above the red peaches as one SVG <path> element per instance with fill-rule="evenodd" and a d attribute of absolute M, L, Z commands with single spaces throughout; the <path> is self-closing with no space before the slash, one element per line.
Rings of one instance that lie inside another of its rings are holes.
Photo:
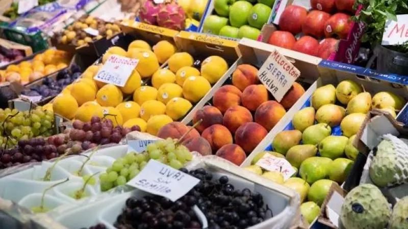
<path fill-rule="evenodd" d="M 278 102 L 300 76 L 300 71 L 281 53 L 273 50 L 258 71 L 258 78 Z"/>

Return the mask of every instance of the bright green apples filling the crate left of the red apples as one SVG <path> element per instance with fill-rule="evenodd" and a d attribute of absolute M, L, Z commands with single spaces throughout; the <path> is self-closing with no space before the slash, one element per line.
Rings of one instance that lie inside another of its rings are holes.
<path fill-rule="evenodd" d="M 274 0 L 212 0 L 200 32 L 223 37 L 257 40 L 271 17 Z"/>

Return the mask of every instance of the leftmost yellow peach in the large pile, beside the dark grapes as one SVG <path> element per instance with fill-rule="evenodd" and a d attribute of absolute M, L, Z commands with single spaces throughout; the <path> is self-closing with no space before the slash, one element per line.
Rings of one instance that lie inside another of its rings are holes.
<path fill-rule="evenodd" d="M 78 107 L 77 100 L 70 94 L 60 94 L 53 101 L 54 113 L 67 119 L 72 119 L 75 116 Z"/>

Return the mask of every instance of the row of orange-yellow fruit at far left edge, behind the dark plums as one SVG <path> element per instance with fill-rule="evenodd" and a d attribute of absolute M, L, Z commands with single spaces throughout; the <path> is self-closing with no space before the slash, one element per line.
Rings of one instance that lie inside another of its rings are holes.
<path fill-rule="evenodd" d="M 61 50 L 47 49 L 34 56 L 31 61 L 22 61 L 18 65 L 9 65 L 0 71 L 1 81 L 19 82 L 27 84 L 31 81 L 66 68 L 70 62 L 70 55 Z"/>

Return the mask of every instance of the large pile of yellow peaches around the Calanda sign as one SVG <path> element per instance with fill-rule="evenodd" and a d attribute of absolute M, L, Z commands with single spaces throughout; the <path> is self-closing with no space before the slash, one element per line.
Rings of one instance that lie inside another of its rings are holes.
<path fill-rule="evenodd" d="M 165 40 L 152 48 L 142 40 L 133 41 L 127 51 L 111 47 L 103 56 L 103 64 L 112 54 L 139 60 L 124 87 L 94 80 L 102 65 L 90 66 L 82 78 L 56 97 L 55 113 L 84 122 L 109 113 L 113 116 L 106 118 L 115 125 L 138 125 L 143 132 L 156 135 L 162 126 L 187 115 L 228 69 L 225 60 L 214 55 L 198 70 L 192 67 L 194 59 L 188 52 L 176 52 L 174 44 Z M 166 62 L 167 67 L 160 68 Z M 151 78 L 151 86 L 142 86 L 145 78 Z M 133 101 L 123 101 L 126 95 L 133 95 Z"/>

